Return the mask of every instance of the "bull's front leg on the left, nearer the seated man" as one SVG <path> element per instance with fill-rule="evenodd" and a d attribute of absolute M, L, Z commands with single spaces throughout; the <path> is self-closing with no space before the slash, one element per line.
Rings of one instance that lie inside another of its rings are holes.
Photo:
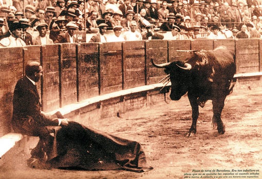
<path fill-rule="evenodd" d="M 198 104 L 197 104 L 197 98 L 189 95 L 189 101 L 192 107 L 192 125 L 191 128 L 189 129 L 189 132 L 186 134 L 186 136 L 190 136 L 191 132 L 196 134 L 196 124 L 197 124 L 197 118 L 199 115 L 199 110 L 198 110 Z"/>

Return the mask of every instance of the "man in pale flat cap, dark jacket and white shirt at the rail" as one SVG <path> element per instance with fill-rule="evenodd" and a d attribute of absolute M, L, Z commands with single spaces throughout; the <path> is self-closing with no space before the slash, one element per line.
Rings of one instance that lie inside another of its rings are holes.
<path fill-rule="evenodd" d="M 78 25 L 76 22 L 69 22 L 66 24 L 66 33 L 60 33 L 55 39 L 54 43 L 77 43 L 76 31 L 78 30 Z"/>

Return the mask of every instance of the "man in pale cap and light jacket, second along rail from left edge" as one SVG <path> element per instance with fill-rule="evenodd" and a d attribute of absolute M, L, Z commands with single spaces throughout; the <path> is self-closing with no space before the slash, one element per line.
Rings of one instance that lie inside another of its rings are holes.
<path fill-rule="evenodd" d="M 39 35 L 36 36 L 33 39 L 33 45 L 47 45 L 47 44 L 53 44 L 52 39 L 50 39 L 46 32 L 48 30 L 48 24 L 46 23 L 40 23 L 38 27 L 36 27 L 36 30 L 38 30 Z"/>

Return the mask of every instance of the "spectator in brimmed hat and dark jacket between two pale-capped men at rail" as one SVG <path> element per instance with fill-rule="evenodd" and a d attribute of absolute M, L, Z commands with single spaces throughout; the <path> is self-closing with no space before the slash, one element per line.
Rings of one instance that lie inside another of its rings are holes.
<path fill-rule="evenodd" d="M 66 32 L 65 25 L 67 23 L 67 20 L 65 19 L 65 16 L 58 16 L 58 19 L 55 20 L 54 23 L 57 24 L 57 26 L 53 27 L 49 33 L 49 38 L 52 39 L 53 42 L 55 41 L 55 39 L 57 39 L 60 33 Z"/>

